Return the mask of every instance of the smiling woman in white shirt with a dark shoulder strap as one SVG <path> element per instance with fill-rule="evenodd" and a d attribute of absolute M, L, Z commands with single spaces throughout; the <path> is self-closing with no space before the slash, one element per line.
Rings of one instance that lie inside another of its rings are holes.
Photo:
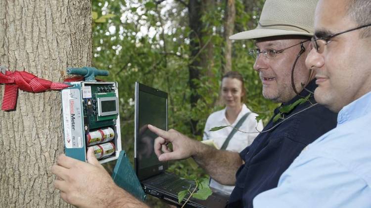
<path fill-rule="evenodd" d="M 213 112 L 206 121 L 203 140 L 212 140 L 219 149 L 233 152 L 241 152 L 249 146 L 259 134 L 257 130 L 263 129 L 263 123 L 256 121 L 258 114 L 251 112 L 242 103 L 245 96 L 243 77 L 236 71 L 227 72 L 222 77 L 222 98 L 226 108 Z M 213 127 L 233 126 L 243 132 L 233 131 L 232 127 L 226 127 L 218 131 L 210 131 Z M 227 141 L 227 142 L 226 142 Z M 234 186 L 222 185 L 215 180 L 210 180 L 210 186 L 231 194 Z"/>

